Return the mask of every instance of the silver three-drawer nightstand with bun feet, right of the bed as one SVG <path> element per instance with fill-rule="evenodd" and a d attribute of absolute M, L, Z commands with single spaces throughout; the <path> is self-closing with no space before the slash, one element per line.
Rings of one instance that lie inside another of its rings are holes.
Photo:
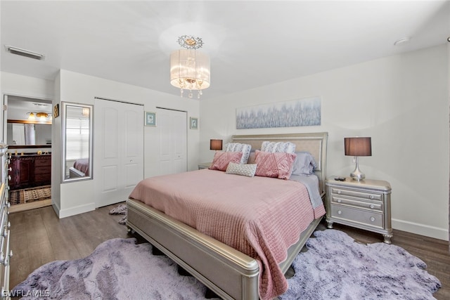
<path fill-rule="evenodd" d="M 345 181 L 328 178 L 326 185 L 326 223 L 333 223 L 381 233 L 391 243 L 391 185 L 387 181 L 366 179 Z"/>

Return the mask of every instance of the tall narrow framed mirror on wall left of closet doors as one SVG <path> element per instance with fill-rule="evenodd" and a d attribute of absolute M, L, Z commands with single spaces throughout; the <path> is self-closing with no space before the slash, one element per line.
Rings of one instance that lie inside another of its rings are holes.
<path fill-rule="evenodd" d="M 63 182 L 92 178 L 92 105 L 62 102 Z"/>

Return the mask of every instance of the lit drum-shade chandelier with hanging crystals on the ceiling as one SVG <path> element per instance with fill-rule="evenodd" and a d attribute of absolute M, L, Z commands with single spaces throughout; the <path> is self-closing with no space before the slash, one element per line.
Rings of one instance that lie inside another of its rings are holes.
<path fill-rule="evenodd" d="M 210 87 L 210 58 L 200 51 L 203 40 L 199 37 L 183 35 L 178 38 L 178 44 L 184 49 L 170 54 L 170 84 L 180 89 L 183 97 L 184 90 L 188 90 L 188 98 L 193 98 L 193 91 L 197 98 L 203 94 L 202 90 Z"/>

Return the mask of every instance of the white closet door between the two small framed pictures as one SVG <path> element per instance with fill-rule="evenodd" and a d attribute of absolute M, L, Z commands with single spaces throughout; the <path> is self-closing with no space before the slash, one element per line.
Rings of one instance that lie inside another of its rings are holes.
<path fill-rule="evenodd" d="M 158 108 L 157 129 L 160 138 L 160 175 L 186 172 L 187 113 Z"/>

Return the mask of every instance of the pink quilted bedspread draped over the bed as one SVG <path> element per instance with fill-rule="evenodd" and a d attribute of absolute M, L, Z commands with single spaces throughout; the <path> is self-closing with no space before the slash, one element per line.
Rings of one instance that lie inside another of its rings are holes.
<path fill-rule="evenodd" d="M 209 169 L 144 179 L 130 197 L 256 259 L 261 299 L 288 289 L 278 263 L 323 215 L 314 216 L 302 183 Z"/>

